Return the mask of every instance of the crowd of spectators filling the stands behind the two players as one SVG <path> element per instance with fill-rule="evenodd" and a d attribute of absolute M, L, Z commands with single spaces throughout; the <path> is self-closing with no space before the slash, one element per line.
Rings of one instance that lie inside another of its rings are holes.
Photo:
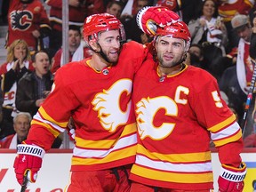
<path fill-rule="evenodd" d="M 51 90 L 54 73 L 65 63 L 61 47 L 62 0 L 0 0 L 0 4 L 0 25 L 8 26 L 7 60 L 0 67 L 3 96 L 0 140 L 6 143 L 6 137 L 19 134 L 15 116 L 21 113 L 29 120 L 28 114 L 32 117 L 36 114 Z M 87 16 L 101 12 L 113 14 L 124 25 L 126 41 L 147 44 L 152 36 L 137 26 L 136 14 L 152 5 L 177 12 L 191 34 L 186 64 L 204 68 L 216 78 L 223 99 L 242 124 L 256 54 L 255 45 L 254 49 L 251 45 L 256 33 L 254 0 L 69 0 L 68 5 L 69 61 L 92 55 L 81 33 Z M 244 133 L 245 147 L 256 146 L 255 111 L 253 101 L 249 128 Z M 23 125 L 24 132 L 28 132 L 27 124 Z M 16 138 L 18 143 L 26 139 Z M 53 148 L 60 147 L 61 138 L 56 143 Z"/>

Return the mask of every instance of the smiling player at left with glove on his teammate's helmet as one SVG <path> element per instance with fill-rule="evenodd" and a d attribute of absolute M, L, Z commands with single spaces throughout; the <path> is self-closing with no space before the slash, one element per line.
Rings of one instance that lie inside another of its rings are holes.
<path fill-rule="evenodd" d="M 141 27 L 151 31 L 179 16 L 163 7 L 150 7 L 142 19 Z M 18 146 L 14 168 L 20 184 L 27 171 L 28 180 L 36 181 L 45 151 L 72 116 L 76 146 L 68 192 L 129 191 L 128 174 L 137 146 L 132 81 L 148 51 L 135 42 L 122 46 L 123 25 L 108 13 L 86 18 L 84 40 L 92 57 L 56 72 L 52 92 L 34 116 L 28 139 Z"/>

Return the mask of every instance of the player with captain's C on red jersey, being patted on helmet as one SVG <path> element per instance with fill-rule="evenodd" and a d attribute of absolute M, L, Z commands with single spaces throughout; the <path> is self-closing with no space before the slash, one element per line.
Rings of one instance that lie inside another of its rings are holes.
<path fill-rule="evenodd" d="M 222 165 L 219 191 L 242 192 L 242 132 L 212 75 L 183 62 L 187 25 L 158 28 L 154 44 L 155 60 L 143 63 L 133 83 L 138 149 L 131 192 L 211 191 L 211 139 Z"/>

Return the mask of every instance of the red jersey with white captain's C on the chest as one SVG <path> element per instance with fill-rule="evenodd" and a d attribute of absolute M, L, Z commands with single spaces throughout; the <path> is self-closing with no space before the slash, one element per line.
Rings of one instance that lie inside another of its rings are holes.
<path fill-rule="evenodd" d="M 220 99 L 216 80 L 203 69 L 186 65 L 173 76 L 156 71 L 156 63 L 147 60 L 134 79 L 138 149 L 130 179 L 161 188 L 213 188 L 210 138 L 221 164 L 241 163 L 236 116 Z"/>

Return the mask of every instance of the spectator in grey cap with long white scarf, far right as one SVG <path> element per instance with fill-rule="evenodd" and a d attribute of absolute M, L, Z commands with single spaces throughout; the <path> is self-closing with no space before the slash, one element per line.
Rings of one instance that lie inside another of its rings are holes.
<path fill-rule="evenodd" d="M 227 68 L 223 72 L 220 79 L 220 90 L 225 92 L 229 102 L 232 102 L 233 106 L 236 106 L 237 114 L 241 119 L 244 114 L 244 104 L 251 85 L 254 68 L 249 53 L 252 26 L 249 18 L 243 14 L 236 15 L 231 20 L 231 24 L 232 28 L 240 37 L 237 48 L 236 65 Z"/>

